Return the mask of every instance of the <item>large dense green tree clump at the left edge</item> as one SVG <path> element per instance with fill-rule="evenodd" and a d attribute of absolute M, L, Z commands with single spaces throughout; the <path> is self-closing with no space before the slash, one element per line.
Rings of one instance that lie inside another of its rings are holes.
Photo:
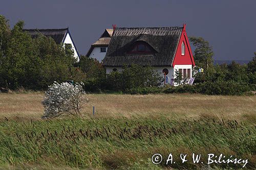
<path fill-rule="evenodd" d="M 23 31 L 24 21 L 11 30 L 0 15 L 0 87 L 41 90 L 57 82 L 81 81 L 83 72 L 75 68 L 73 50 L 38 34 L 32 39 Z"/>

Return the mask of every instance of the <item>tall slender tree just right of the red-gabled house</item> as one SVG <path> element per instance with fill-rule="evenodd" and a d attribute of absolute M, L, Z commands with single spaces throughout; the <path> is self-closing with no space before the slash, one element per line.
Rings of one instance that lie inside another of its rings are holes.
<path fill-rule="evenodd" d="M 208 74 L 214 66 L 214 60 L 212 59 L 214 52 L 212 51 L 212 46 L 210 46 L 209 42 L 205 41 L 202 37 L 189 37 L 189 40 L 196 46 L 194 51 L 196 65 L 206 69 Z"/>

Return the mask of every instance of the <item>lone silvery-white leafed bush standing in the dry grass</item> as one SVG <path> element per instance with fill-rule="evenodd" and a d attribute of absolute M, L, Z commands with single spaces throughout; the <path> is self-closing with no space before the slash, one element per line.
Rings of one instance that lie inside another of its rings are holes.
<path fill-rule="evenodd" d="M 49 86 L 42 105 L 45 107 L 43 118 L 58 117 L 63 114 L 81 115 L 81 108 L 89 102 L 82 84 L 57 83 Z"/>

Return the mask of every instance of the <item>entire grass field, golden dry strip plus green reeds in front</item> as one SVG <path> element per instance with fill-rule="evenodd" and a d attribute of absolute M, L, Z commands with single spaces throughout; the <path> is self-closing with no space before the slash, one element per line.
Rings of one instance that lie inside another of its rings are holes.
<path fill-rule="evenodd" d="M 83 119 L 41 120 L 42 93 L 0 94 L 0 166 L 34 169 L 160 169 L 151 157 L 208 153 L 256 168 L 256 96 L 90 94 Z M 96 107 L 92 115 L 92 105 Z M 6 118 L 5 118 L 6 117 Z M 182 163 L 173 168 L 204 168 Z M 211 164 L 214 168 L 242 165 Z"/>

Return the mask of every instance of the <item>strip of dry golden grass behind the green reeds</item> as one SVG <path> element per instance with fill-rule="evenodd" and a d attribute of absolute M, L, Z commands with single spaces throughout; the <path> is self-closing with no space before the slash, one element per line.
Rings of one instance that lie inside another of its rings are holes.
<path fill-rule="evenodd" d="M 40 119 L 43 93 L 1 93 L 0 118 Z M 177 118 L 219 117 L 255 120 L 256 95 L 221 96 L 202 94 L 120 95 L 89 94 L 96 117 L 159 117 Z M 83 113 L 92 116 L 92 106 Z"/>

